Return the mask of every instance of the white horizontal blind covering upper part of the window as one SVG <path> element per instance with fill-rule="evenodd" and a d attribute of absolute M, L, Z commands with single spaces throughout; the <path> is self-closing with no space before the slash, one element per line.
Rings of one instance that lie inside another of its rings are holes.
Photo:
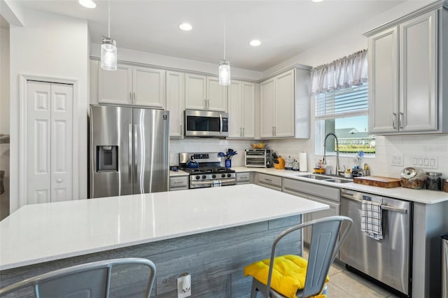
<path fill-rule="evenodd" d="M 315 115 L 318 120 L 367 115 L 367 84 L 316 95 Z"/>

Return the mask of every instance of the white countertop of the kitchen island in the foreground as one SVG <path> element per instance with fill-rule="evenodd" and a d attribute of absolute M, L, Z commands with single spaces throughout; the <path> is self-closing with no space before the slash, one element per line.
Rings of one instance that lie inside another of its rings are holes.
<path fill-rule="evenodd" d="M 0 222 L 0 270 L 325 209 L 252 184 L 32 204 Z"/>

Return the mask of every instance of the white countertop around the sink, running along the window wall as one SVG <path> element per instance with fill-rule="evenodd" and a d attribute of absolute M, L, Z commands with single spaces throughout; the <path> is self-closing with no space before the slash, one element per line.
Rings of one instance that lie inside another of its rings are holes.
<path fill-rule="evenodd" d="M 285 178 L 293 178 L 297 180 L 303 180 L 312 183 L 319 183 L 323 185 L 330 185 L 333 187 L 344 188 L 347 190 L 356 190 L 359 192 L 368 192 L 370 194 L 378 194 L 385 197 L 393 197 L 396 199 L 404 199 L 407 201 L 414 201 L 422 204 L 437 204 L 442 201 L 448 201 L 448 192 L 435 191 L 435 190 L 412 190 L 405 187 L 393 187 L 384 188 L 370 185 L 362 185 L 358 183 L 333 183 L 323 180 L 314 180 L 309 178 L 303 178 L 300 176 L 309 175 L 311 172 L 299 172 L 289 170 L 279 170 L 274 168 L 246 168 L 245 166 L 232 167 L 233 170 L 238 172 L 255 171 L 258 173 L 267 173 L 270 175 L 281 176 Z M 341 177 L 342 178 L 342 177 Z"/>

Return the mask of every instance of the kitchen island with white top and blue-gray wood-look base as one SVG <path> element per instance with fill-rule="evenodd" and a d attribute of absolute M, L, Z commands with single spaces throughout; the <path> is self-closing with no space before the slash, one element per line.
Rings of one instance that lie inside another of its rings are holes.
<path fill-rule="evenodd" d="M 73 264 L 147 257 L 158 267 L 156 297 L 176 297 L 184 272 L 194 297 L 248 296 L 242 268 L 269 257 L 274 236 L 301 214 L 326 208 L 257 185 L 27 205 L 0 222 L 0 287 Z M 280 253 L 300 253 L 300 234 L 285 240 Z M 137 294 L 141 274 L 125 275 L 114 275 L 117 295 Z"/>

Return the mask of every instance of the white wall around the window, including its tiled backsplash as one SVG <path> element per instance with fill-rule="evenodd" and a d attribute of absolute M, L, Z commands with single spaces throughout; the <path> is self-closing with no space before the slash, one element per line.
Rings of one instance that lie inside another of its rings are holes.
<path fill-rule="evenodd" d="M 272 69 L 265 71 L 265 76 L 274 73 L 292 64 L 306 64 L 318 66 L 334 61 L 335 59 L 350 55 L 353 52 L 367 48 L 367 38 L 363 36 L 365 31 L 374 29 L 385 22 L 406 15 L 433 1 L 406 1 L 381 15 L 372 17 L 370 20 L 353 26 L 327 41 L 323 41 L 316 47 L 300 53 Z M 308 168 L 322 159 L 322 155 L 314 155 L 314 100 L 311 99 L 311 139 L 309 140 L 277 140 L 268 141 L 269 146 L 278 151 L 282 156 L 291 155 L 298 157 L 298 152 L 308 152 Z M 365 163 L 370 165 L 371 174 L 377 176 L 399 177 L 400 171 L 405 166 L 411 166 L 411 156 L 437 157 L 438 169 L 448 177 L 448 135 L 419 135 L 419 136 L 377 136 L 377 154 L 373 158 L 366 158 Z M 391 166 L 393 155 L 402 156 L 405 159 L 403 166 Z M 353 166 L 352 157 L 341 157 L 340 164 L 347 167 Z M 329 158 L 333 166 L 336 164 L 335 157 Z M 424 166 L 423 166 L 424 169 Z"/>

